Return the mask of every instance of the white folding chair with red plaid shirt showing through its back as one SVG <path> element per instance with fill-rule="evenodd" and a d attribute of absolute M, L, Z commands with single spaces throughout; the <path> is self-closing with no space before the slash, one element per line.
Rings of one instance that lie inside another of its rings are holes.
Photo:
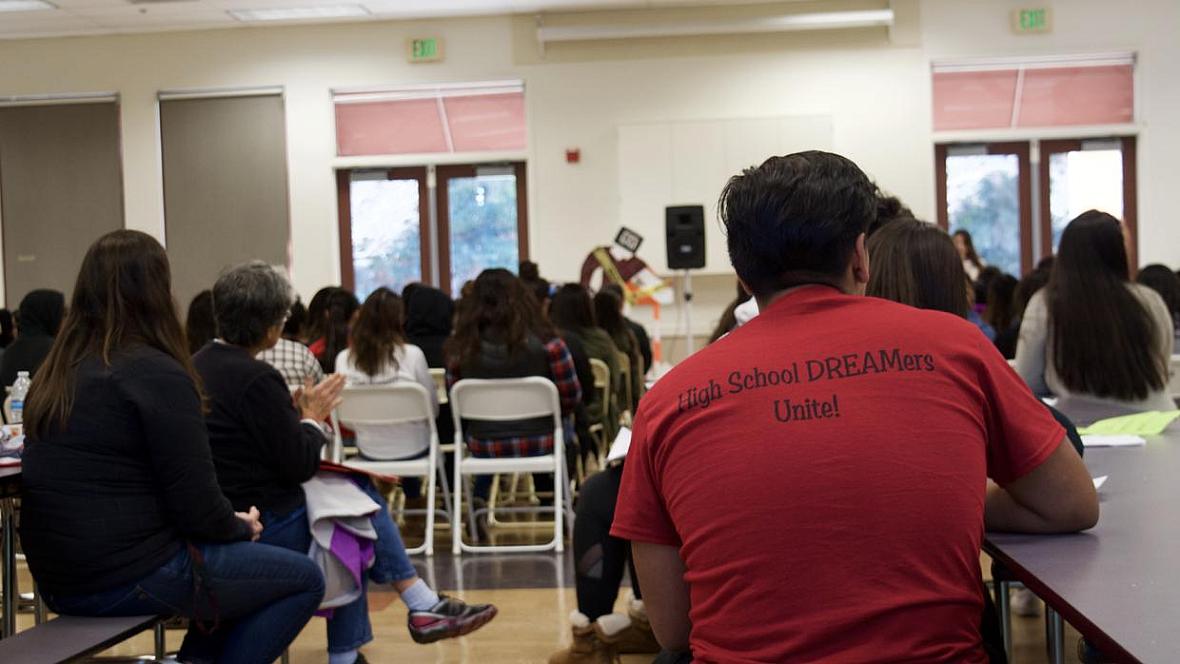
<path fill-rule="evenodd" d="M 553 473 L 553 539 L 545 544 L 481 546 L 463 541 L 463 528 L 451 528 L 451 553 L 525 552 L 564 550 L 563 524 L 569 509 L 569 479 L 565 472 L 565 434 L 562 428 L 562 407 L 557 386 L 549 379 L 464 379 L 451 388 L 451 416 L 454 419 L 454 514 L 463 514 L 464 475 L 494 475 L 498 473 Z M 463 432 L 464 420 L 511 422 L 535 418 L 552 418 L 553 452 L 543 456 L 467 456 Z M 550 507 L 509 507 L 506 512 L 548 512 Z"/>

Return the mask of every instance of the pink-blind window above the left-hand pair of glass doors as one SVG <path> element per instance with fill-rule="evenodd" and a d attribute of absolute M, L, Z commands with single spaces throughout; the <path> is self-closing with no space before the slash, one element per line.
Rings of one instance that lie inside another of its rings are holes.
<path fill-rule="evenodd" d="M 336 92 L 333 97 L 341 157 L 526 147 L 519 81 Z"/>

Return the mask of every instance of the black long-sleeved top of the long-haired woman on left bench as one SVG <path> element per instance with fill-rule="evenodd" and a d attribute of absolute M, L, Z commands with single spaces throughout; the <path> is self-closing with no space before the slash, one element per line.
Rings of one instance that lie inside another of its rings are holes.
<path fill-rule="evenodd" d="M 214 474 L 181 364 L 135 347 L 81 362 L 66 426 L 30 440 L 20 537 L 40 586 L 88 594 L 143 578 L 184 540 L 249 539 Z"/>

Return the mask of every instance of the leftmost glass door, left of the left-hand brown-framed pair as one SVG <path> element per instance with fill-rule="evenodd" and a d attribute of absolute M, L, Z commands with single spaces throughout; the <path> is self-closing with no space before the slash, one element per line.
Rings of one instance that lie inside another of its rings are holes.
<path fill-rule="evenodd" d="M 426 169 L 340 171 L 341 275 L 365 300 L 430 280 Z"/>

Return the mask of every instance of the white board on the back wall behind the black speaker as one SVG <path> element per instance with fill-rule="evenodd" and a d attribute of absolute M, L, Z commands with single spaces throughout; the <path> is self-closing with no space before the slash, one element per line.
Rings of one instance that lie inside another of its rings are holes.
<path fill-rule="evenodd" d="M 774 155 L 832 150 L 830 116 L 686 120 L 618 126 L 618 219 L 640 254 L 667 272 L 664 208 L 704 206 L 706 272 L 729 272 L 717 197 L 730 177 Z"/>

